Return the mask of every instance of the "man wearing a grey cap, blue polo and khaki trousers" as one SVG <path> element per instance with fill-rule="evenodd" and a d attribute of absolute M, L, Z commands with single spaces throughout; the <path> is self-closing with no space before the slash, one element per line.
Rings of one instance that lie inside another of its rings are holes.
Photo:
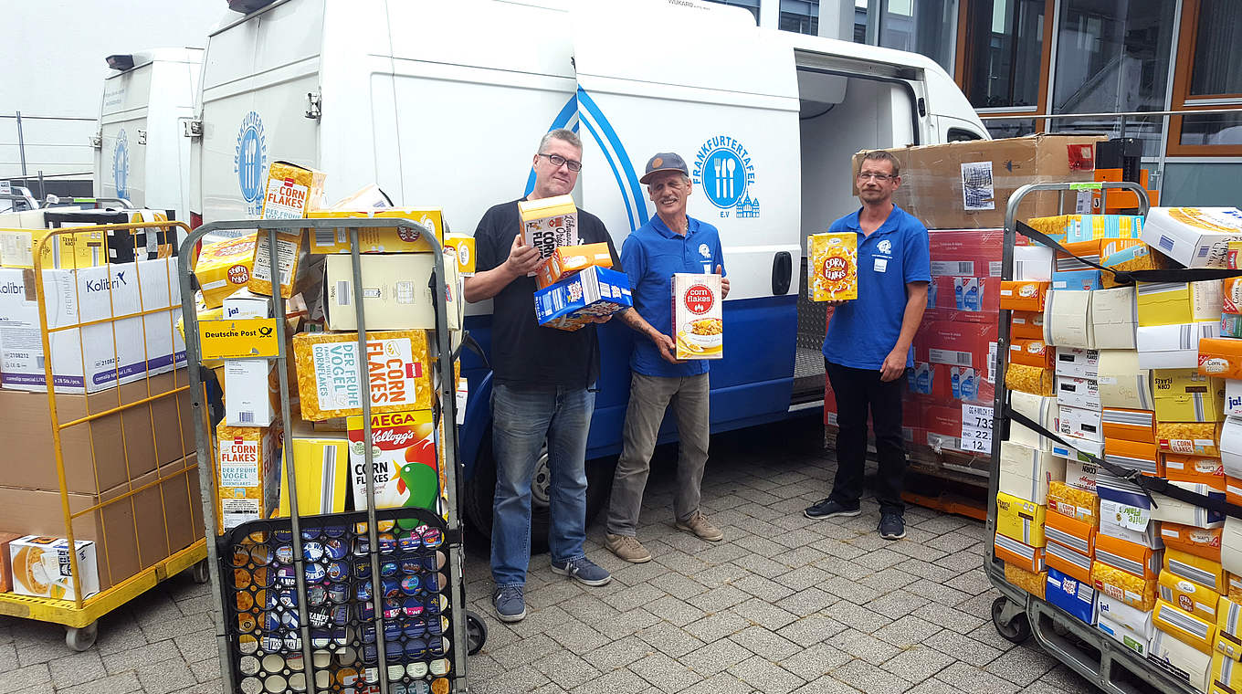
<path fill-rule="evenodd" d="M 630 406 L 621 458 L 612 478 L 606 535 L 609 550 L 635 564 L 651 561 L 651 552 L 637 538 L 638 511 L 656 436 L 669 405 L 681 439 L 673 495 L 677 529 L 709 541 L 724 538 L 699 511 L 710 433 L 708 363 L 677 360 L 676 344 L 668 334 L 673 323 L 673 274 L 724 274 L 720 236 L 714 226 L 686 214 L 693 185 L 681 156 L 672 153 L 652 156 L 641 183 L 647 186 L 656 216 L 626 237 L 621 246 L 621 263 L 630 277 L 633 308 L 620 315 L 646 339 L 635 343 L 630 356 Z M 720 293 L 722 299 L 728 295 L 728 278 L 720 279 Z"/>

